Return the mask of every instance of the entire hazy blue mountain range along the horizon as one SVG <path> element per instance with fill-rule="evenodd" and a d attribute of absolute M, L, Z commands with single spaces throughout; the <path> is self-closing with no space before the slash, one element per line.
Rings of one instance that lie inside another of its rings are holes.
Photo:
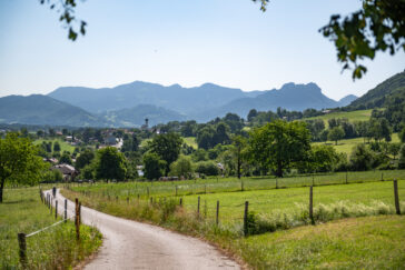
<path fill-rule="evenodd" d="M 75 127 L 139 127 L 146 118 L 150 124 L 191 119 L 205 122 L 227 112 L 246 118 L 250 109 L 345 107 L 356 98 L 350 94 L 335 101 L 313 82 L 246 92 L 214 83 L 184 88 L 135 81 L 115 88 L 62 87 L 48 96 L 0 98 L 0 122 Z"/>

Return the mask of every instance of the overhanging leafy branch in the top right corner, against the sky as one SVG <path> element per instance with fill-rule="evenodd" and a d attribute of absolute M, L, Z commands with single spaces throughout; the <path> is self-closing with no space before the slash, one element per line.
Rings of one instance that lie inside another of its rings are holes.
<path fill-rule="evenodd" d="M 335 43 L 343 70 L 353 68 L 352 77 L 356 79 L 367 71 L 358 60 L 373 60 L 378 51 L 388 50 L 394 54 L 405 50 L 404 18 L 402 0 L 363 0 L 360 10 L 343 19 L 339 14 L 332 16 L 319 31 Z"/>

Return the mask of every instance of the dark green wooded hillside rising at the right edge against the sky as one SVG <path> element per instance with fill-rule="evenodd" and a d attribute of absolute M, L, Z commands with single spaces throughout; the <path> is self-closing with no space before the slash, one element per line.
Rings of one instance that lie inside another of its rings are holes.
<path fill-rule="evenodd" d="M 374 109 L 394 103 L 395 97 L 405 97 L 405 71 L 397 73 L 379 83 L 347 108 L 350 110 Z"/>

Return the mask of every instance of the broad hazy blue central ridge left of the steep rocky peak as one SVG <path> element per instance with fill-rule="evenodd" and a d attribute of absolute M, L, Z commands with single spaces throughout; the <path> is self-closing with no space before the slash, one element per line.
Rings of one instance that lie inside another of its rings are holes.
<path fill-rule="evenodd" d="M 205 83 L 195 88 L 182 88 L 179 84 L 164 87 L 158 83 L 135 81 L 115 88 L 58 88 L 48 96 L 90 112 L 102 112 L 134 108 L 138 104 L 154 104 L 182 114 L 217 108 L 231 100 L 256 96 L 240 89 L 225 88 Z"/>

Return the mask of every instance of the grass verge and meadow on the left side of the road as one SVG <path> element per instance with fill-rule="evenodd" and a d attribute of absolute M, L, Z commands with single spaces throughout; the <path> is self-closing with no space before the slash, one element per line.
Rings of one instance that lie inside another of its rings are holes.
<path fill-rule="evenodd" d="M 6 189 L 0 203 L 0 269 L 21 269 L 17 233 L 31 233 L 55 222 L 38 188 Z M 75 224 L 68 221 L 27 238 L 28 269 L 71 269 L 97 251 L 101 234 L 87 226 L 80 232 L 77 242 Z"/>

